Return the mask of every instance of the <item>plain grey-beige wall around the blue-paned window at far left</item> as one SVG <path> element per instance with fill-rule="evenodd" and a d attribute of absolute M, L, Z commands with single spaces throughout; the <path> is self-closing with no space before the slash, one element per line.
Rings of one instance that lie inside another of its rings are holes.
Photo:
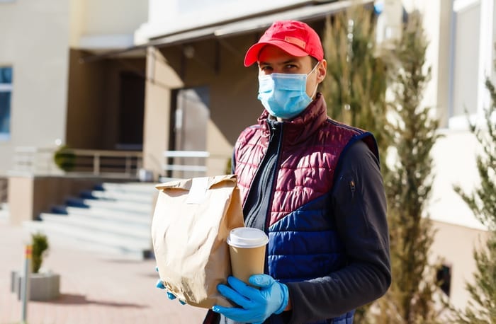
<path fill-rule="evenodd" d="M 52 146 L 65 137 L 69 4 L 0 3 L 0 65 L 13 67 L 11 139 L 0 141 L 0 173 L 15 146 Z"/>

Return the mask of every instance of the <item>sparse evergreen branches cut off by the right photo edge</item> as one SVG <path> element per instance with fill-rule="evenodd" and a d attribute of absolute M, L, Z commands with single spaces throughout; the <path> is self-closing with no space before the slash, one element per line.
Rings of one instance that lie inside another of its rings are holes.
<path fill-rule="evenodd" d="M 466 284 L 472 301 L 456 313 L 458 323 L 496 323 L 496 90 L 490 79 L 485 85 L 491 96 L 491 105 L 485 111 L 485 127 L 470 125 L 483 149 L 477 156 L 480 185 L 470 193 L 463 192 L 459 186 L 455 190 L 475 217 L 487 226 L 489 237 L 483 250 L 473 252 L 475 282 Z"/>

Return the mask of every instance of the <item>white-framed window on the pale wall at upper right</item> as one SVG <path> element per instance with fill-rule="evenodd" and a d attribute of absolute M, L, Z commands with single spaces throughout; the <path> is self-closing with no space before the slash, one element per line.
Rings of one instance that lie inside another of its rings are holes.
<path fill-rule="evenodd" d="M 493 44 L 496 37 L 493 0 L 454 0 L 449 76 L 449 125 L 468 127 L 483 117 L 490 105 L 485 79 L 494 73 Z"/>

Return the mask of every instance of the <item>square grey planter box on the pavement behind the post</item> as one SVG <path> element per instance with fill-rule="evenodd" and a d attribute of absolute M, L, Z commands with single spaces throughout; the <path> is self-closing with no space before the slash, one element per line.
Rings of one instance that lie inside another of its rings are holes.
<path fill-rule="evenodd" d="M 23 274 L 11 272 L 11 291 L 21 300 Z M 29 277 L 30 301 L 50 301 L 60 296 L 60 275 L 55 273 L 32 273 Z"/>

